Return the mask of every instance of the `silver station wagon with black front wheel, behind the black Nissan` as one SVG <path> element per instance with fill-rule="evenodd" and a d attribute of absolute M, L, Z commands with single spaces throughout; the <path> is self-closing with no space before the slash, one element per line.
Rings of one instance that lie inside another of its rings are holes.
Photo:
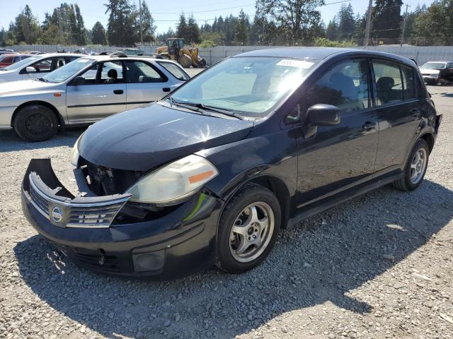
<path fill-rule="evenodd" d="M 0 129 L 44 141 L 59 126 L 92 124 L 160 100 L 189 78 L 170 60 L 81 57 L 42 78 L 0 83 Z"/>

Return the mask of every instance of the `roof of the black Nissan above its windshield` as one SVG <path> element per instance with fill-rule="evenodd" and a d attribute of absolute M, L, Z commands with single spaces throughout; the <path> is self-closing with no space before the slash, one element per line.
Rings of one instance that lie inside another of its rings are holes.
<path fill-rule="evenodd" d="M 238 54 L 236 57 L 280 57 L 319 60 L 326 59 L 326 57 L 332 54 L 353 51 L 357 51 L 357 49 L 335 47 L 279 47 L 245 52 Z"/>

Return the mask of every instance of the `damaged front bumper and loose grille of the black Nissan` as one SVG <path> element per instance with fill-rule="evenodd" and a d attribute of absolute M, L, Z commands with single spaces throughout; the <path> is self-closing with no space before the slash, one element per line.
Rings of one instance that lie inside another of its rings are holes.
<path fill-rule="evenodd" d="M 203 190 L 166 206 L 132 201 L 125 187 L 143 175 L 80 159 L 74 195 L 50 159 L 33 159 L 23 178 L 23 212 L 53 246 L 91 270 L 161 279 L 211 266 L 222 201 Z"/>

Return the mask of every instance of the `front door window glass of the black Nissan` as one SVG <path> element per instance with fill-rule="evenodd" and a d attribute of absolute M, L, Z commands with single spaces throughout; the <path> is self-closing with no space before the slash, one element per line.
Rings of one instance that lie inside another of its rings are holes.
<path fill-rule="evenodd" d="M 331 67 L 306 95 L 307 106 L 328 104 L 342 112 L 369 107 L 369 79 L 367 61 L 352 59 Z"/>

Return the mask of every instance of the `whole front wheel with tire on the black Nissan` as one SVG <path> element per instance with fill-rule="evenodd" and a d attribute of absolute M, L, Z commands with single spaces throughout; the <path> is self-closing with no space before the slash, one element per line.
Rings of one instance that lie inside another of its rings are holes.
<path fill-rule="evenodd" d="M 280 222 L 280 203 L 275 195 L 263 186 L 244 186 L 220 217 L 217 267 L 229 273 L 243 273 L 258 266 L 273 249 Z"/>

